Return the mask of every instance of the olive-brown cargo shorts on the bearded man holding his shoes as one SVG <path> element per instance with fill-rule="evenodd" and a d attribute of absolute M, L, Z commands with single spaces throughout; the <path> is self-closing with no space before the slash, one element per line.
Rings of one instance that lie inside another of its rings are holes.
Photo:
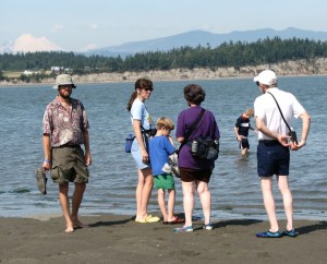
<path fill-rule="evenodd" d="M 51 149 L 51 179 L 59 184 L 87 183 L 88 169 L 81 146 L 53 147 Z"/>

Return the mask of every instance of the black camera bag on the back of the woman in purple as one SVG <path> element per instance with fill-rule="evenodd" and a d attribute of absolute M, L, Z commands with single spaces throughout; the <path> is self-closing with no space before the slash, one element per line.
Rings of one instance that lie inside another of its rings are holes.
<path fill-rule="evenodd" d="M 192 155 L 199 159 L 216 160 L 219 155 L 219 141 L 201 136 L 192 142 Z"/>

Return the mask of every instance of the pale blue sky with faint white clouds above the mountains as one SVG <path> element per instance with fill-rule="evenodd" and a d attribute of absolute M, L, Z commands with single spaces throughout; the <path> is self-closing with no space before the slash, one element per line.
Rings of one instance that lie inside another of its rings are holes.
<path fill-rule="evenodd" d="M 86 51 L 203 29 L 327 32 L 325 0 L 0 0 L 0 46 Z"/>

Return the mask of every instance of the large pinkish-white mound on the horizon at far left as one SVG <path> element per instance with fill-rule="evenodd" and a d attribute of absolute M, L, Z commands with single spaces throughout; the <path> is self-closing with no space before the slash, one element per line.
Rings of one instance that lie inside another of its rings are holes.
<path fill-rule="evenodd" d="M 35 52 L 35 51 L 51 51 L 63 50 L 61 47 L 51 43 L 46 37 L 36 38 L 31 34 L 23 34 L 13 44 L 13 52 Z"/>

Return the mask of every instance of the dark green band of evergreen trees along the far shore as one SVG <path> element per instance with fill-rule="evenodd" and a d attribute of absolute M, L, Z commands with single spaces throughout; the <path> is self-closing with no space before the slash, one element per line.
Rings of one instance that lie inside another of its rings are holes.
<path fill-rule="evenodd" d="M 51 67 L 70 69 L 74 74 L 170 70 L 178 68 L 219 68 L 257 65 L 287 60 L 327 57 L 327 41 L 310 39 L 258 39 L 255 43 L 230 41 L 211 48 L 184 46 L 169 51 L 147 51 L 118 57 L 84 56 L 74 52 L 19 52 L 0 55 L 1 71 L 40 71 Z"/>

